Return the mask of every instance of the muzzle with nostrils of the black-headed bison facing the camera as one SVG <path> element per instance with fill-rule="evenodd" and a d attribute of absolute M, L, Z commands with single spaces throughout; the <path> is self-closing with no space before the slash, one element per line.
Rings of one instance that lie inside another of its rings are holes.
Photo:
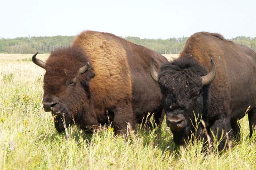
<path fill-rule="evenodd" d="M 186 119 L 183 115 L 166 116 L 166 124 L 173 131 L 181 131 L 186 125 Z"/>

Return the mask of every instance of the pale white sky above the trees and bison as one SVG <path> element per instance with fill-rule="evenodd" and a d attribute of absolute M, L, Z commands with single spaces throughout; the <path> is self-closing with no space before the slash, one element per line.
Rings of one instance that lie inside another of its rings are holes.
<path fill-rule="evenodd" d="M 256 0 L 0 0 L 0 37 L 88 29 L 154 39 L 199 31 L 256 37 Z"/>

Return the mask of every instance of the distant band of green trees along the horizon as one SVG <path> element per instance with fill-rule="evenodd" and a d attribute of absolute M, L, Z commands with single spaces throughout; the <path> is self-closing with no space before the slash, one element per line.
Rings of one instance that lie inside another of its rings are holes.
<path fill-rule="evenodd" d="M 53 37 L 18 37 L 0 39 L 0 53 L 50 53 L 56 48 L 70 46 L 75 36 Z M 188 37 L 169 39 L 140 39 L 139 37 L 124 37 L 128 41 L 148 47 L 161 54 L 178 54 L 184 48 Z M 256 37 L 238 36 L 230 39 L 235 43 L 246 45 L 256 51 Z"/>

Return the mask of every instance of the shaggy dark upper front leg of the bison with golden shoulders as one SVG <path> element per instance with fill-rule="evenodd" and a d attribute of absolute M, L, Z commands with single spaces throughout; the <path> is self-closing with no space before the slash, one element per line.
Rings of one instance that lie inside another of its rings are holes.
<path fill-rule="evenodd" d="M 124 135 L 128 131 L 133 131 L 135 118 L 130 101 L 125 101 L 114 110 L 113 126 L 116 135 Z"/>

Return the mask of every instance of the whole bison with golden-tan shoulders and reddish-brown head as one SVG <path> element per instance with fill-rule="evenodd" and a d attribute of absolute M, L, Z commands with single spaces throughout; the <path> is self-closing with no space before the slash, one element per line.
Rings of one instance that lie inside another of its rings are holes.
<path fill-rule="evenodd" d="M 148 74 L 150 56 L 157 65 L 167 61 L 159 53 L 110 33 L 84 31 L 71 47 L 52 51 L 46 63 L 36 54 L 32 61 L 46 70 L 44 110 L 52 112 L 58 132 L 63 121 L 84 129 L 112 122 L 123 134 L 128 123 L 145 122 L 148 112 L 155 113 L 156 125 L 162 122 L 160 88 Z"/>

